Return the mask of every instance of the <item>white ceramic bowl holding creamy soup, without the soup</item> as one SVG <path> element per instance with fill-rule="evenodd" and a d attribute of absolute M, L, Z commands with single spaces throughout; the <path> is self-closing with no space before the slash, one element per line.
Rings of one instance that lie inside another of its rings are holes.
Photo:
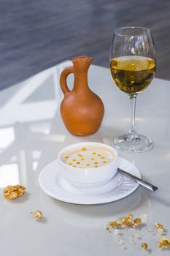
<path fill-rule="evenodd" d="M 115 155 L 115 159 L 107 165 L 101 167 L 88 167 L 88 168 L 78 168 L 71 167 L 66 165 L 62 161 L 63 154 L 66 152 L 79 147 L 88 147 L 88 146 L 99 146 L 106 148 Z M 96 187 L 101 186 L 107 183 L 115 174 L 117 173 L 118 167 L 118 156 L 117 151 L 104 143 L 95 143 L 95 142 L 83 142 L 83 143 L 74 143 L 72 145 L 66 146 L 58 153 L 58 162 L 61 168 L 61 175 L 66 178 L 71 184 L 76 187 Z"/>

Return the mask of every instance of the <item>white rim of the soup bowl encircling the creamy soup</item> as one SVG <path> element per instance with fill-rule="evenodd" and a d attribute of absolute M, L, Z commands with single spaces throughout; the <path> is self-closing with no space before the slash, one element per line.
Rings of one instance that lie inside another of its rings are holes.
<path fill-rule="evenodd" d="M 112 146 L 109 146 L 109 145 L 107 145 L 107 144 L 105 144 L 105 143 L 99 143 L 99 142 L 80 142 L 80 143 L 72 143 L 72 144 L 70 144 L 70 145 L 68 145 L 68 146 L 66 146 L 66 147 L 64 147 L 64 148 L 62 148 L 61 149 L 61 151 L 59 151 L 58 152 L 58 160 L 62 163 L 62 165 L 65 165 L 66 167 L 71 167 L 71 166 L 69 166 L 69 165 L 66 165 L 62 160 L 61 160 L 61 154 L 63 154 L 65 151 L 66 151 L 66 149 L 67 148 L 74 148 L 74 146 L 80 146 L 80 145 L 83 145 L 83 146 L 85 146 L 85 145 L 97 145 L 97 146 L 104 146 L 104 147 L 107 147 L 107 148 L 109 148 L 111 151 L 113 151 L 114 152 L 114 154 L 116 155 L 116 157 L 115 157 L 115 159 L 112 161 L 112 162 L 109 162 L 109 164 L 107 164 L 107 165 L 102 165 L 102 166 L 100 166 L 100 167 L 98 167 L 98 168 L 103 168 L 103 167 L 107 167 L 108 165 L 112 165 L 114 162 L 116 162 L 116 160 L 117 160 L 117 158 L 118 158 L 118 153 L 117 153 L 117 151 L 115 150 L 115 148 L 113 148 Z M 94 167 L 88 167 L 88 168 L 79 168 L 79 167 L 74 167 L 73 168 L 73 170 L 98 170 L 98 168 L 94 168 Z"/>

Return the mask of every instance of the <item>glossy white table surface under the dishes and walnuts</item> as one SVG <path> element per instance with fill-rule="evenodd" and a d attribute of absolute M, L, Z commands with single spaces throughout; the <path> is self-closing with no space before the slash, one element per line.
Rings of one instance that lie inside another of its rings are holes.
<path fill-rule="evenodd" d="M 169 255 L 169 250 L 158 250 L 161 235 L 153 227 L 161 222 L 170 238 L 169 81 L 154 79 L 137 99 L 137 129 L 154 141 L 154 148 L 139 154 L 118 152 L 158 191 L 139 187 L 117 202 L 80 206 L 55 200 L 40 189 L 39 172 L 56 159 L 61 148 L 80 141 L 112 145 L 113 138 L 127 132 L 130 125 L 128 95 L 114 85 L 109 69 L 91 66 L 90 89 L 105 106 L 101 128 L 88 137 L 74 137 L 66 131 L 59 114 L 63 95 L 58 78 L 70 64 L 66 61 L 0 93 L 1 255 Z M 15 200 L 4 199 L 3 188 L 9 184 L 22 184 L 26 193 Z M 43 213 L 41 221 L 31 217 L 36 210 Z M 107 222 L 128 213 L 134 217 L 147 214 L 147 222 L 140 229 L 122 230 L 117 238 L 113 231 L 106 231 Z M 133 244 L 129 237 L 135 233 L 139 238 Z M 125 246 L 120 246 L 121 239 Z M 148 243 L 149 251 L 142 249 L 142 241 Z"/>

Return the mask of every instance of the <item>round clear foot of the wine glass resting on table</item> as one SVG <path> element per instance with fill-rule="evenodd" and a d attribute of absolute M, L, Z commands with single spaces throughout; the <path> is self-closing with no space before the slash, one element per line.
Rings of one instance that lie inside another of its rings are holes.
<path fill-rule="evenodd" d="M 128 152 L 144 152 L 152 148 L 152 140 L 144 135 L 121 135 L 115 138 L 113 145 L 122 151 Z"/>

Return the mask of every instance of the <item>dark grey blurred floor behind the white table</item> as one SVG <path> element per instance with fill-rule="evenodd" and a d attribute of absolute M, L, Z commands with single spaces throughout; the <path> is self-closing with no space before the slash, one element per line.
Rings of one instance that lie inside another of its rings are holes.
<path fill-rule="evenodd" d="M 108 67 L 120 26 L 152 30 L 156 77 L 170 79 L 169 0 L 0 0 L 0 88 L 82 54 Z"/>

